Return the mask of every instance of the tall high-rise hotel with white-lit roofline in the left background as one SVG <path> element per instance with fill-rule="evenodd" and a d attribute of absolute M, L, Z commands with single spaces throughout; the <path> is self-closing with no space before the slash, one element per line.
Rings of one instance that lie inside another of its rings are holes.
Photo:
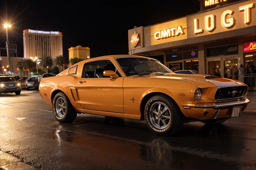
<path fill-rule="evenodd" d="M 62 32 L 23 30 L 24 58 L 63 55 Z"/>

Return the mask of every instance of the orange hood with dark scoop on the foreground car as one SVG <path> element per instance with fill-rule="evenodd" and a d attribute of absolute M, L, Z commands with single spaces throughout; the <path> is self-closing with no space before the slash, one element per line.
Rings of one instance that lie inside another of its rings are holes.
<path fill-rule="evenodd" d="M 190 82 L 200 88 L 206 87 L 228 87 L 245 85 L 239 81 L 207 74 L 175 74 L 175 73 L 152 73 L 144 78 L 161 78 L 171 80 L 183 80 Z"/>

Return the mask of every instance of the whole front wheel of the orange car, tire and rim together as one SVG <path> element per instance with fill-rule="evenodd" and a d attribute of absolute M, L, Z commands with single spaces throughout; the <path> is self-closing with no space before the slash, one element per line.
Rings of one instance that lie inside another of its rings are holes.
<path fill-rule="evenodd" d="M 144 112 L 147 127 L 160 135 L 178 133 L 183 126 L 183 115 L 174 100 L 164 95 L 150 98 Z"/>

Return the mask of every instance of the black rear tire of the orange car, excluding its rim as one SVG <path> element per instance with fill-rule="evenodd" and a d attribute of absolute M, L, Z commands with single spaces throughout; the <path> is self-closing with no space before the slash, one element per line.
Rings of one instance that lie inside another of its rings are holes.
<path fill-rule="evenodd" d="M 66 113 L 63 117 L 59 118 L 57 115 L 57 112 L 56 112 L 56 101 L 59 97 L 62 97 L 64 100 L 65 100 L 65 103 L 66 103 Z M 67 98 L 67 96 L 63 93 L 57 93 L 54 98 L 53 98 L 53 101 L 52 101 L 52 108 L 53 108 L 53 114 L 54 114 L 54 117 L 57 119 L 58 122 L 65 122 L 67 117 L 68 117 L 68 112 L 69 112 L 69 99 Z"/>

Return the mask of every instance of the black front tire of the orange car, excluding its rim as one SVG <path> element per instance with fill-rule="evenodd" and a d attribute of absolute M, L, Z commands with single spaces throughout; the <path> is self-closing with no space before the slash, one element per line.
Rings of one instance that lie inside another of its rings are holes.
<path fill-rule="evenodd" d="M 151 125 L 151 122 L 150 122 L 150 118 L 149 118 L 149 110 L 150 110 L 150 108 L 151 108 L 151 106 L 154 104 L 154 103 L 156 103 L 156 102 L 162 102 L 162 103 L 164 103 L 168 108 L 169 108 L 169 110 L 170 110 L 170 114 L 171 114 L 171 124 L 167 127 L 167 128 L 165 128 L 165 129 L 161 129 L 161 130 L 159 130 L 159 129 L 156 129 L 153 125 Z M 173 104 L 171 103 L 171 101 L 168 101 L 168 100 L 166 100 L 165 98 L 163 98 L 163 97 L 161 97 L 161 96 L 154 96 L 154 97 L 152 97 L 152 98 L 150 98 L 149 99 L 149 101 L 147 102 L 147 104 L 146 104 L 146 107 L 145 107 L 145 114 L 144 114 L 144 117 L 145 117 L 145 121 L 146 121 L 146 124 L 147 124 L 147 127 L 151 130 L 151 131 L 153 131 L 153 132 L 155 132 L 155 133 L 157 133 L 157 134 L 168 134 L 169 133 L 169 131 L 171 131 L 171 129 L 172 129 L 172 127 L 174 126 L 174 121 L 175 121 L 175 114 L 173 114 L 174 113 L 174 109 L 173 109 Z"/>

